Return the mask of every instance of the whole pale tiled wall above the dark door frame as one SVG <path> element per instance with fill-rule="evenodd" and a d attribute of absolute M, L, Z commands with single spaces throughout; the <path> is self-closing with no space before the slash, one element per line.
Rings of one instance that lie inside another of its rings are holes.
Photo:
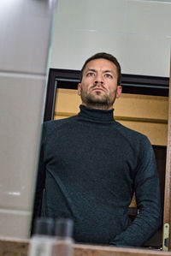
<path fill-rule="evenodd" d="M 171 1 L 59 0 L 51 68 L 80 69 L 98 51 L 123 74 L 169 76 Z"/>

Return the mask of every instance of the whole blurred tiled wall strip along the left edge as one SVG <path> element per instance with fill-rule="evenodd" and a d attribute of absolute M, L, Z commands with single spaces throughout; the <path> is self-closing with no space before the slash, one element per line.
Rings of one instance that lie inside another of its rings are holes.
<path fill-rule="evenodd" d="M 0 1 L 0 236 L 29 235 L 54 0 Z"/>

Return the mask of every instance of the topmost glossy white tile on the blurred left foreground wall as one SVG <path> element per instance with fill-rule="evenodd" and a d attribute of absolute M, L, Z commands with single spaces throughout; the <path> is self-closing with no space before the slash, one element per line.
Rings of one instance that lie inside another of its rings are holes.
<path fill-rule="evenodd" d="M 0 3 L 0 70 L 45 74 L 50 38 L 48 0 Z M 8 51 L 7 51 L 8 50 Z"/>

